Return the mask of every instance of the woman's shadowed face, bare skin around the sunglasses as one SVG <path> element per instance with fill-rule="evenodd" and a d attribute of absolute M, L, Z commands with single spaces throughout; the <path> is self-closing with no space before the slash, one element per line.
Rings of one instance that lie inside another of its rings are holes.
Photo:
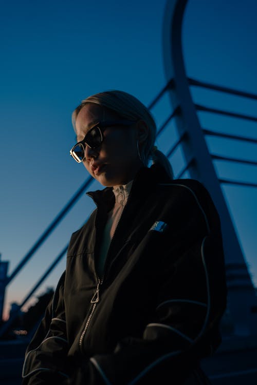
<path fill-rule="evenodd" d="M 76 120 L 77 140 L 82 141 L 85 134 L 97 123 L 119 121 L 115 112 L 88 103 L 79 112 Z M 103 132 L 102 144 L 85 150 L 83 164 L 89 174 L 103 186 L 116 186 L 130 182 L 142 167 L 138 151 L 138 124 L 131 126 L 110 126 Z"/>

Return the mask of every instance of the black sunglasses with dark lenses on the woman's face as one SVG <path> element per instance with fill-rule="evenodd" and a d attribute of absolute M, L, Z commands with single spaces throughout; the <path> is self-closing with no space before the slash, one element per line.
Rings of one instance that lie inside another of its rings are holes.
<path fill-rule="evenodd" d="M 135 123 L 134 120 L 116 120 L 116 121 L 106 121 L 100 122 L 96 126 L 92 127 L 87 133 L 85 138 L 76 143 L 75 146 L 69 151 L 70 155 L 76 162 L 81 163 L 85 159 L 85 150 L 88 146 L 91 149 L 97 148 L 102 144 L 103 141 L 103 131 L 107 127 L 113 126 L 130 126 Z M 123 128 L 123 127 L 119 127 Z"/>

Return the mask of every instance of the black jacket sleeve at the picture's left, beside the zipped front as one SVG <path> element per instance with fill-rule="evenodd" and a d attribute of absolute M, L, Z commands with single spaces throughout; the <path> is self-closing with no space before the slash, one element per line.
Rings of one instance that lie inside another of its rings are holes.
<path fill-rule="evenodd" d="M 63 300 L 65 272 L 61 276 L 45 316 L 26 350 L 23 385 L 60 383 L 67 378 L 67 337 Z"/>

